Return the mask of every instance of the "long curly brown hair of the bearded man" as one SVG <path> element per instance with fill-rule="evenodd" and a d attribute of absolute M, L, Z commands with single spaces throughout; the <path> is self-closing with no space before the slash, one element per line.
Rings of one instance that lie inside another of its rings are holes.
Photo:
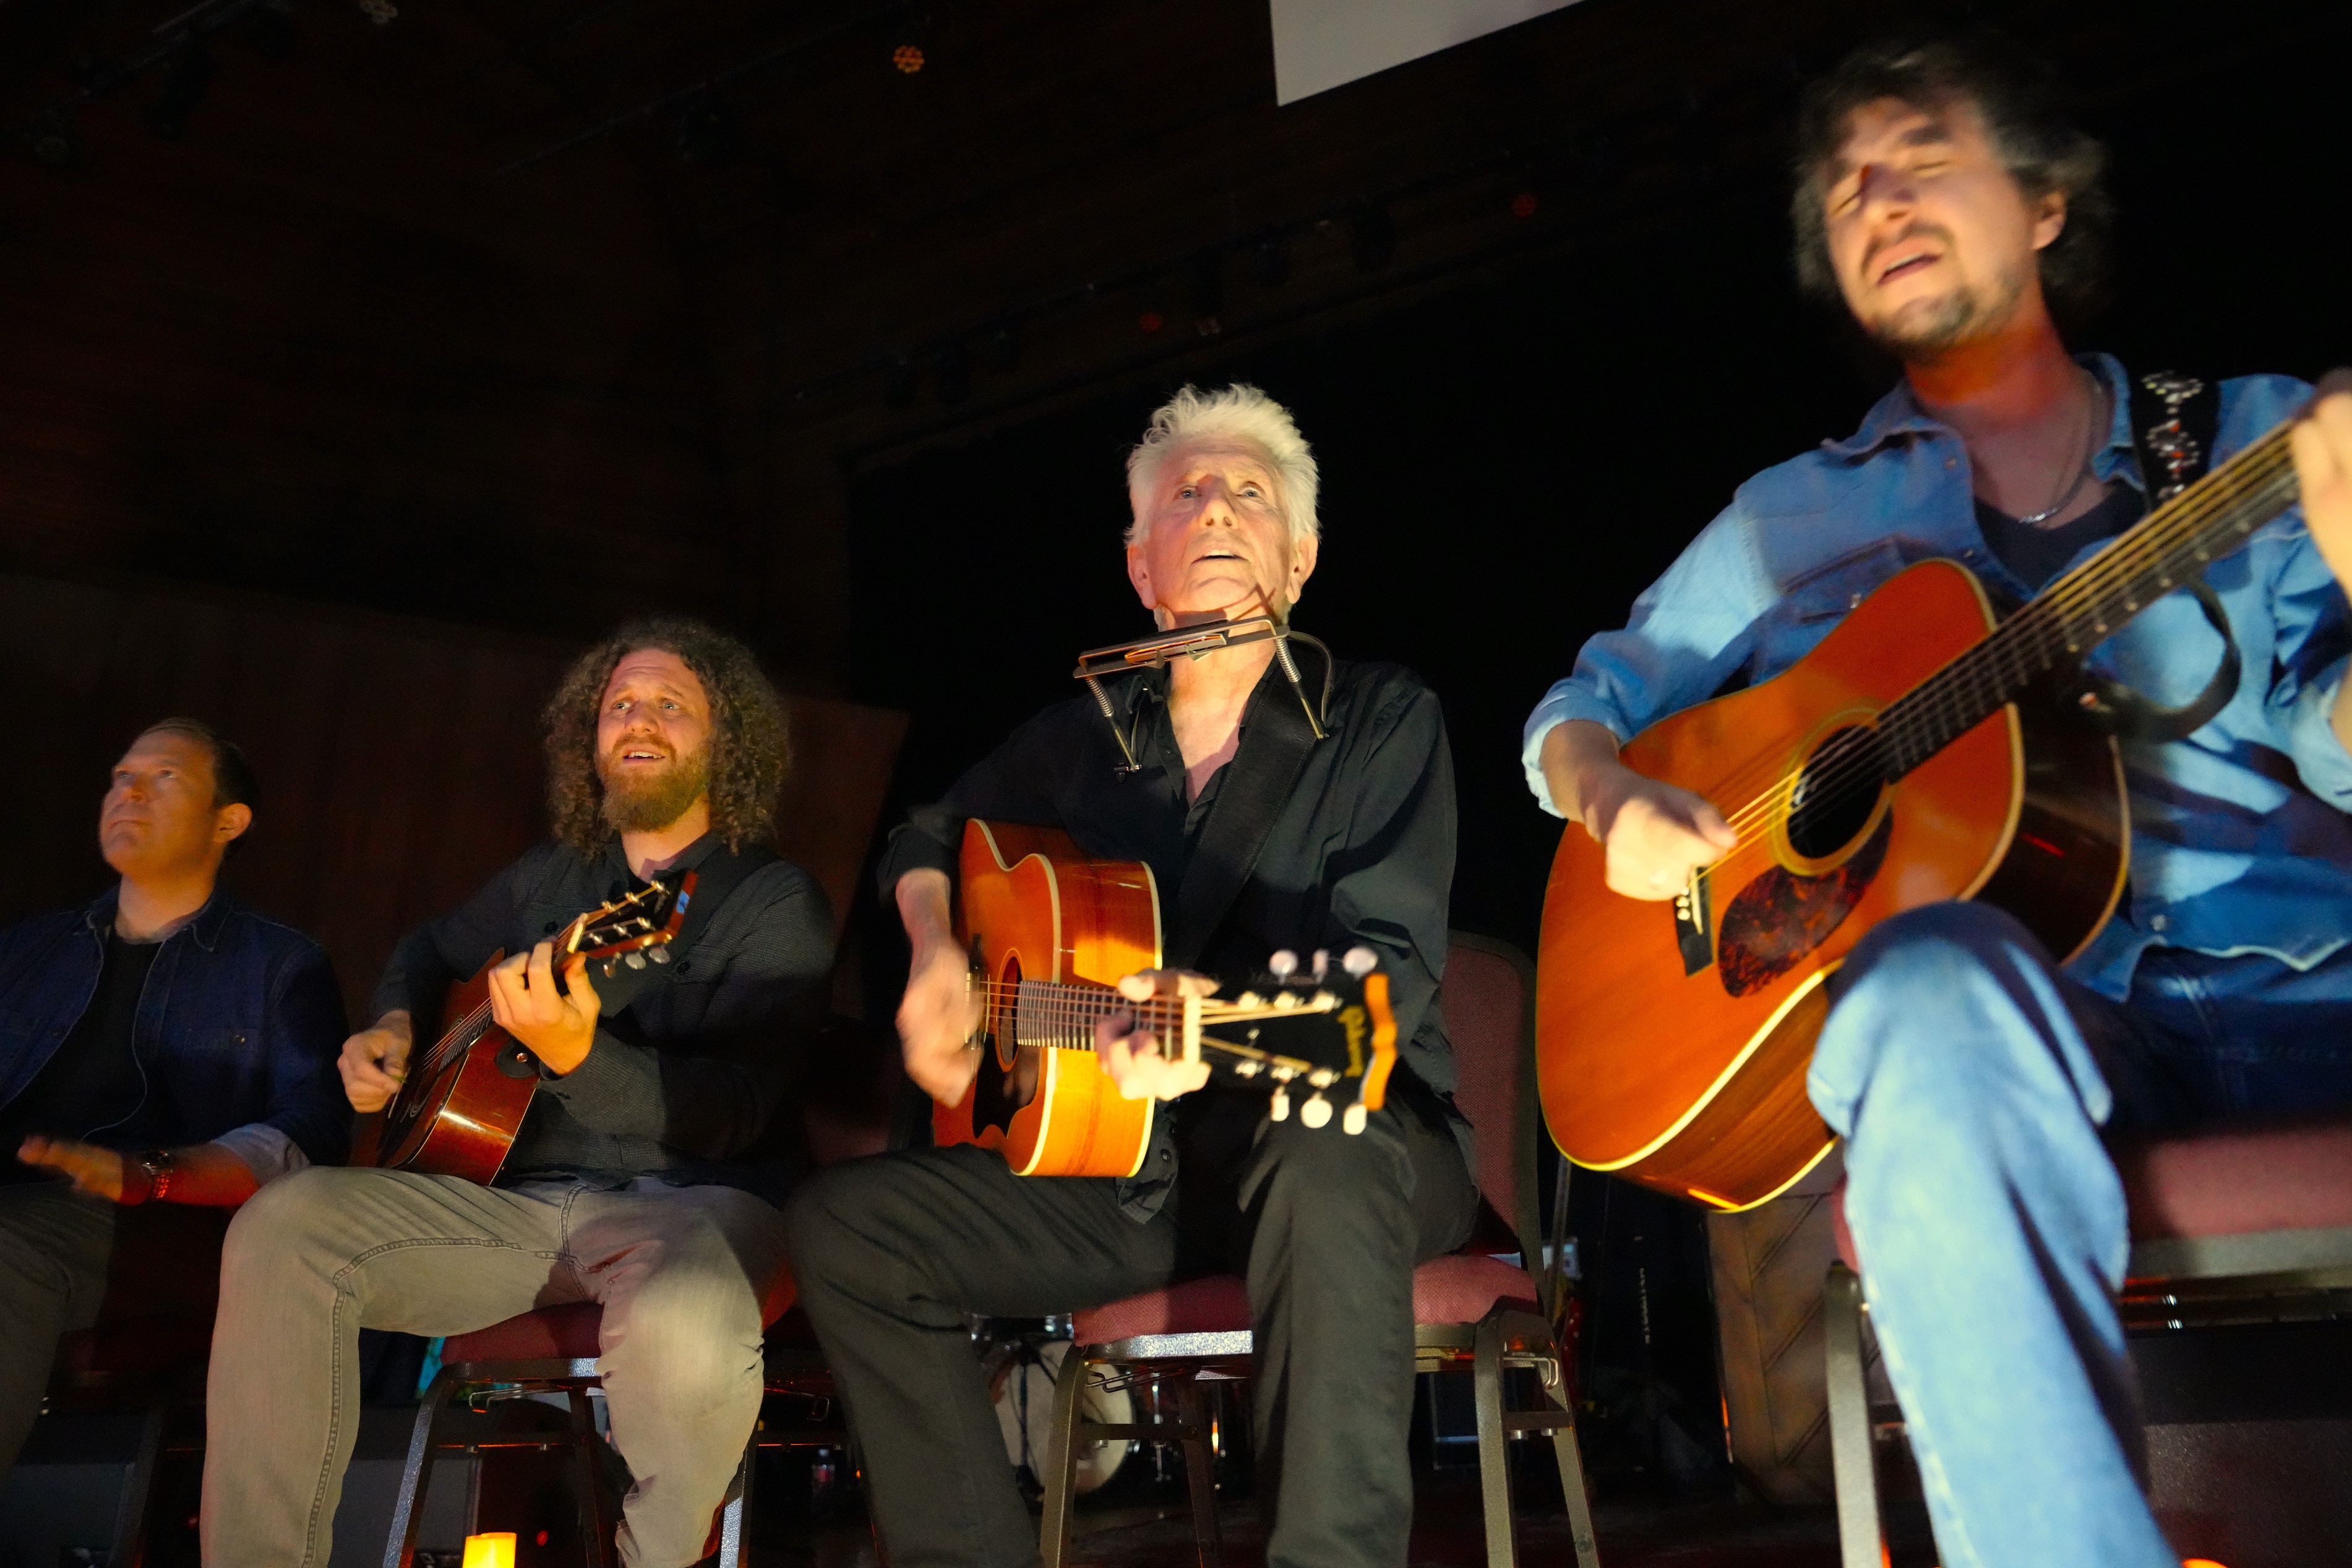
<path fill-rule="evenodd" d="M 783 701 L 741 642 L 684 616 L 630 621 L 581 654 L 548 698 L 548 818 L 555 837 L 586 858 L 612 839 L 604 780 L 595 773 L 595 722 L 604 686 L 626 654 L 677 654 L 710 698 L 710 830 L 727 849 L 767 842 L 776 792 L 793 766 Z"/>

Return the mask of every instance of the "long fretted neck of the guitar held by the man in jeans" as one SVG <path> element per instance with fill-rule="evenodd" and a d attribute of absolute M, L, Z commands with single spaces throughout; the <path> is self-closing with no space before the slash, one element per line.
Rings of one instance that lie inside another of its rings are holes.
<path fill-rule="evenodd" d="M 1980 644 L 1912 686 L 1879 715 L 1889 783 L 2018 701 L 2072 670 L 2126 621 L 2192 583 L 2265 522 L 2296 503 L 2288 425 L 2274 428 L 2173 496 L 2112 545 L 2044 588 Z"/>

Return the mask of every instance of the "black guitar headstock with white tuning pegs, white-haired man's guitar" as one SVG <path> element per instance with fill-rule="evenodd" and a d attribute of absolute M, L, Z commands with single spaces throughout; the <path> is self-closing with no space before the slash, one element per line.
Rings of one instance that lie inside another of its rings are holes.
<path fill-rule="evenodd" d="M 1211 1032 L 1214 1030 L 1214 1032 Z M 1265 973 L 1232 997 L 1200 1004 L 1200 1060 L 1218 1077 L 1268 1084 L 1268 1114 L 1287 1121 L 1294 1091 L 1298 1121 L 1319 1128 L 1334 1112 L 1343 1133 L 1362 1133 L 1388 1098 L 1397 1065 L 1397 1020 L 1388 976 L 1371 947 L 1338 961 L 1315 952 L 1277 952 Z"/>

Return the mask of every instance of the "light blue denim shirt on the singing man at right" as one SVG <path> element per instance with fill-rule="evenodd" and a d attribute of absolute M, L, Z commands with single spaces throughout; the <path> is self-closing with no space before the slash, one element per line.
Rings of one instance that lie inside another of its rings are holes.
<path fill-rule="evenodd" d="M 2114 395 L 2100 480 L 2140 487 L 2124 367 L 2084 357 Z M 2293 414 L 2310 388 L 2244 376 L 2220 388 L 2216 463 Z M 2098 545 L 2084 548 L 2089 557 Z M 1576 656 L 1526 722 L 1526 780 L 1557 816 L 1538 752 L 1564 719 L 1632 738 L 1726 684 L 1797 663 L 1896 571 L 1957 559 L 2011 599 L 2030 597 L 1976 524 L 1969 454 L 1907 386 L 1842 442 L 1748 480 L 1632 607 L 1625 630 Z M 2131 889 L 2070 971 L 2122 999 L 2143 950 L 2265 952 L 2307 969 L 2352 938 L 2352 755 L 2328 724 L 2345 677 L 2345 595 L 2288 510 L 2206 571 L 2230 614 L 2244 675 L 2204 729 L 2126 745 Z M 1999 592 L 1994 597 L 1999 597 Z M 2154 703 L 2194 698 L 2220 658 L 2197 602 L 2176 592 L 2093 654 L 2103 675 Z M 1722 802 L 1717 802 L 1722 804 Z"/>

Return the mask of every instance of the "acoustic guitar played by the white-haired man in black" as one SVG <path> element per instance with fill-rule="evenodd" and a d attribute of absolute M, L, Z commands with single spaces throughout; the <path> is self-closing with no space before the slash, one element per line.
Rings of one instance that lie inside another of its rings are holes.
<path fill-rule="evenodd" d="M 938 1145 L 1000 1150 L 1018 1175 L 1134 1175 L 1152 1100 L 1124 1100 L 1094 1056 L 1094 1025 L 1134 1013 L 1160 1048 L 1211 1077 L 1270 1091 L 1270 1117 L 1362 1133 L 1388 1093 L 1397 1023 L 1369 947 L 1331 964 L 1277 952 L 1232 999 L 1129 1001 L 1112 985 L 1160 969 L 1152 870 L 1087 856 L 1065 832 L 964 825 L 957 936 L 971 950 L 981 1070 L 931 1117 Z M 1214 1032 L 1211 1032 L 1214 1030 Z M 1305 1098 L 1294 1107 L 1291 1093 Z"/>

